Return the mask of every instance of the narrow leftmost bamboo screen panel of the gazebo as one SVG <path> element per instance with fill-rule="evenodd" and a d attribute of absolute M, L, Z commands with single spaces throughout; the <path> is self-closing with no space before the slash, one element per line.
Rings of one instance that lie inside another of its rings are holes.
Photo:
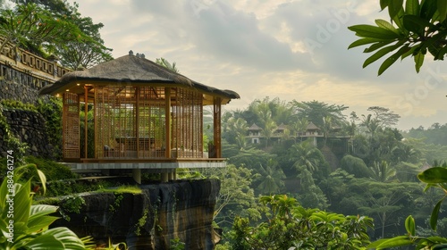
<path fill-rule="evenodd" d="M 78 95 L 63 93 L 63 158 L 80 158 L 80 104 Z"/>

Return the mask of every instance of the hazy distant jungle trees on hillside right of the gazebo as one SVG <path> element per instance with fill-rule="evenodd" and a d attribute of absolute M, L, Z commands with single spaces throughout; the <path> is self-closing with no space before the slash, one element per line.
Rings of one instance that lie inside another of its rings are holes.
<path fill-rule="evenodd" d="M 375 220 L 372 239 L 400 235 L 399 221 L 405 221 L 409 214 L 414 214 L 425 236 L 435 235 L 426 228 L 425 220 L 431 204 L 436 204 L 442 193 L 434 190 L 430 196 L 422 194 L 416 175 L 435 159 L 447 159 L 442 147 L 395 129 L 400 116 L 388 108 L 371 106 L 364 113 L 345 116 L 342 112 L 348 107 L 344 105 L 311 103 L 265 98 L 245 110 L 223 115 L 223 155 L 232 164 L 252 171 L 254 178 L 248 185 L 255 194 L 286 193 L 308 209 L 367 215 Z M 283 113 L 289 116 L 287 120 L 283 120 Z M 253 144 L 248 128 L 256 123 L 265 129 L 266 118 L 276 123 L 286 121 L 285 127 L 292 132 L 283 137 L 276 134 L 268 142 L 260 134 L 260 143 Z M 322 136 L 315 140 L 301 137 L 309 122 L 318 121 L 323 126 L 333 123 L 327 126 L 327 136 L 320 130 Z M 426 129 L 417 131 L 423 137 Z M 238 134 L 246 136 L 243 146 L 233 139 Z M 267 167 L 269 162 L 274 162 L 274 168 Z M 249 223 L 254 226 L 253 221 Z"/>

